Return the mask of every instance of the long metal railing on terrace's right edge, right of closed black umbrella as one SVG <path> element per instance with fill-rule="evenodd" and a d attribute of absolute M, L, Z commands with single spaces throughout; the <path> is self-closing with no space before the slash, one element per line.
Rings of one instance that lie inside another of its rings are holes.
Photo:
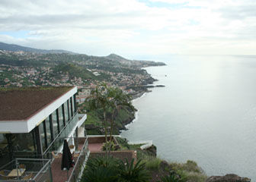
<path fill-rule="evenodd" d="M 68 182 L 75 182 L 79 180 L 81 177 L 82 169 L 85 168 L 85 162 L 88 159 L 89 150 L 88 150 L 88 138 L 86 138 L 84 145 L 76 159 L 76 163 L 74 168 L 72 169 L 72 173 L 69 177 Z"/>

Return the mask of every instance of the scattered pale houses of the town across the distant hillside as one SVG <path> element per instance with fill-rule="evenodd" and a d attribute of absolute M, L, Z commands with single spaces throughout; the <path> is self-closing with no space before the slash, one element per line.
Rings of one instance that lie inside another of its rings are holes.
<path fill-rule="evenodd" d="M 94 75 L 107 74 L 110 86 L 119 86 L 125 93 L 136 94 L 130 86 L 141 86 L 150 79 L 149 74 L 124 74 L 110 71 L 91 69 Z M 100 82 L 99 80 L 85 80 L 82 77 L 72 77 L 67 73 L 59 71 L 55 73 L 52 67 L 24 67 L 0 64 L 1 87 L 22 87 L 22 86 L 78 86 L 79 92 L 77 102 L 85 102 L 90 95 L 91 89 Z"/>

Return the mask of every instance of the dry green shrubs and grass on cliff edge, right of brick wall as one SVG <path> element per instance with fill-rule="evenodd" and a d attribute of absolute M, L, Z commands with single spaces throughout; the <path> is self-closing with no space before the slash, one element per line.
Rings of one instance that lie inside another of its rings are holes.
<path fill-rule="evenodd" d="M 142 144 L 130 145 L 125 138 L 116 137 L 121 150 L 133 149 L 137 152 L 137 159 L 145 163 L 145 168 L 149 171 L 152 179 L 149 181 L 162 182 L 203 182 L 206 180 L 206 174 L 198 167 L 194 161 L 186 163 L 165 162 L 158 158 L 150 149 L 142 150 Z"/>

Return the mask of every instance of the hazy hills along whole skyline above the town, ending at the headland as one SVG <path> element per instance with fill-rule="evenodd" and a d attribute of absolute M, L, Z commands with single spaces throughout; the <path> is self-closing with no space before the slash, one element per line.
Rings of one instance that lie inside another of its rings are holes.
<path fill-rule="evenodd" d="M 43 64 L 75 63 L 88 68 L 94 67 L 114 67 L 132 68 L 139 70 L 141 67 L 165 65 L 155 61 L 136 61 L 110 54 L 107 56 L 94 56 L 85 54 L 75 54 L 74 52 L 62 50 L 33 49 L 20 45 L 6 44 L 0 42 L 0 63 L 18 66 L 34 66 Z M 107 69 L 108 70 L 108 69 Z"/>

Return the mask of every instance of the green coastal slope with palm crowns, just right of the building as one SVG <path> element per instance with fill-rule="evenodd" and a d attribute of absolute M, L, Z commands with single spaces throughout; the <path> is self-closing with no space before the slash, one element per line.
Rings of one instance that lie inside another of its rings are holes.
<path fill-rule="evenodd" d="M 88 134 L 102 134 L 105 131 L 119 134 L 119 130 L 134 118 L 135 108 L 131 105 L 130 96 L 119 88 L 98 86 L 92 95 L 79 105 L 86 111 L 88 118 L 85 124 Z"/>

